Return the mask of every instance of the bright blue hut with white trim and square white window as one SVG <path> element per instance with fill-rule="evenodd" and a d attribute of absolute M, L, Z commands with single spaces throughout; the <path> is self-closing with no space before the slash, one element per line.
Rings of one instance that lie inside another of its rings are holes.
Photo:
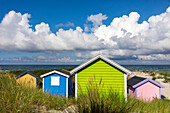
<path fill-rule="evenodd" d="M 66 70 L 51 71 L 40 76 L 43 78 L 43 91 L 52 95 L 70 96 L 73 92 L 73 79 Z"/>

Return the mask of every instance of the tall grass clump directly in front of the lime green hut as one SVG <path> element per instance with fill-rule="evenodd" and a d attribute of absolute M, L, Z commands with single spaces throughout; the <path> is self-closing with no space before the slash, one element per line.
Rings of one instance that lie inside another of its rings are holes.
<path fill-rule="evenodd" d="M 133 110 L 135 101 L 131 99 L 127 102 L 122 94 L 114 90 L 105 92 L 103 85 L 102 79 L 99 83 L 91 79 L 88 81 L 87 92 L 80 90 L 77 101 L 80 113 L 126 113 Z"/>

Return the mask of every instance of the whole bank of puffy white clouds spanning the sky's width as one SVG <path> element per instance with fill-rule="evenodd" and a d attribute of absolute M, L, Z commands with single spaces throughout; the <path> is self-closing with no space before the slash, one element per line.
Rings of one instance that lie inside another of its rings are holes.
<path fill-rule="evenodd" d="M 113 59 L 170 60 L 167 56 L 170 53 L 170 7 L 140 24 L 137 12 L 113 18 L 109 25 L 103 24 L 108 17 L 99 13 L 87 18 L 93 27 L 85 24 L 85 30 L 76 26 L 75 30 L 59 29 L 56 33 L 44 22 L 33 30 L 29 18 L 30 14 L 15 11 L 5 15 L 0 23 L 0 50 L 74 51 L 79 60 L 97 54 Z M 58 61 L 63 60 L 70 59 L 65 57 Z"/>

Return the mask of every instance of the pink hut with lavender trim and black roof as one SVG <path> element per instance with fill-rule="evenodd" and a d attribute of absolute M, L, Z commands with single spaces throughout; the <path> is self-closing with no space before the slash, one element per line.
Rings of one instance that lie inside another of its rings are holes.
<path fill-rule="evenodd" d="M 136 96 L 144 101 L 152 101 L 154 98 L 161 99 L 161 84 L 150 78 L 133 76 L 128 79 L 128 93 L 130 97 Z"/>

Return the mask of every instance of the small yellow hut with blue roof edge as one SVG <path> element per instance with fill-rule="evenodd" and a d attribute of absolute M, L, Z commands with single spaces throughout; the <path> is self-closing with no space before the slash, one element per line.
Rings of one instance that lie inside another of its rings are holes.
<path fill-rule="evenodd" d="M 25 86 L 29 86 L 29 87 L 37 86 L 38 77 L 28 71 L 25 71 L 20 75 L 16 76 L 15 79 L 17 83 L 23 84 Z"/>

